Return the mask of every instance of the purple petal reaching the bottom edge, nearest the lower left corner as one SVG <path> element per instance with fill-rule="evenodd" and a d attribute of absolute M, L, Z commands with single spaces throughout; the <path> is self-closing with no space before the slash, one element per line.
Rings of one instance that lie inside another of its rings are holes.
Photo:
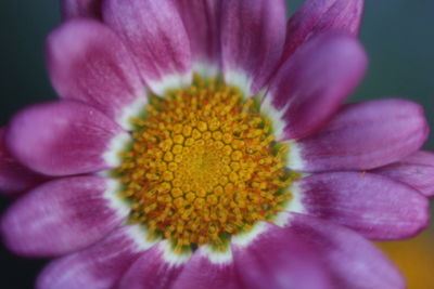
<path fill-rule="evenodd" d="M 148 249 L 131 237 L 132 228 L 120 227 L 88 249 L 52 261 L 40 274 L 37 288 L 113 288 Z"/>

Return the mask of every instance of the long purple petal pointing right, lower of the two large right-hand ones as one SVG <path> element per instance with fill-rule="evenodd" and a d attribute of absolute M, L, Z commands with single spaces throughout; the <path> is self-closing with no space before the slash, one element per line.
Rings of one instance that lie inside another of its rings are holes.
<path fill-rule="evenodd" d="M 408 238 L 427 226 L 430 203 L 416 189 L 373 173 L 314 174 L 295 183 L 303 212 L 370 239 Z"/>

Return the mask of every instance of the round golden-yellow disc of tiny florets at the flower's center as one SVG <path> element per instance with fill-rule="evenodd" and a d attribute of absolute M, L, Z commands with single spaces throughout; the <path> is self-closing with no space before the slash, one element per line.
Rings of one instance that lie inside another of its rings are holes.
<path fill-rule="evenodd" d="M 273 141 L 255 102 L 222 80 L 151 96 L 132 120 L 132 146 L 114 171 L 131 203 L 130 221 L 176 251 L 212 245 L 271 220 L 291 198 L 296 175 L 286 146 Z"/>

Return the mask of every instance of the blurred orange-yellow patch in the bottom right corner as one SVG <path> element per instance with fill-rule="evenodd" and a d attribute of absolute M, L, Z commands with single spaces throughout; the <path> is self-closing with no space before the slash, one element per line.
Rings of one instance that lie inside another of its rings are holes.
<path fill-rule="evenodd" d="M 434 289 L 434 227 L 412 239 L 376 245 L 401 271 L 408 289 Z"/>

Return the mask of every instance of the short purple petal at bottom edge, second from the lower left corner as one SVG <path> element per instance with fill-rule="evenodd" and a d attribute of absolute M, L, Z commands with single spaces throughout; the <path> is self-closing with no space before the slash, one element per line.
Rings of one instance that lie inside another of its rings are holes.
<path fill-rule="evenodd" d="M 173 288 L 183 265 L 170 264 L 164 259 L 163 244 L 144 252 L 125 273 L 118 289 Z"/>

